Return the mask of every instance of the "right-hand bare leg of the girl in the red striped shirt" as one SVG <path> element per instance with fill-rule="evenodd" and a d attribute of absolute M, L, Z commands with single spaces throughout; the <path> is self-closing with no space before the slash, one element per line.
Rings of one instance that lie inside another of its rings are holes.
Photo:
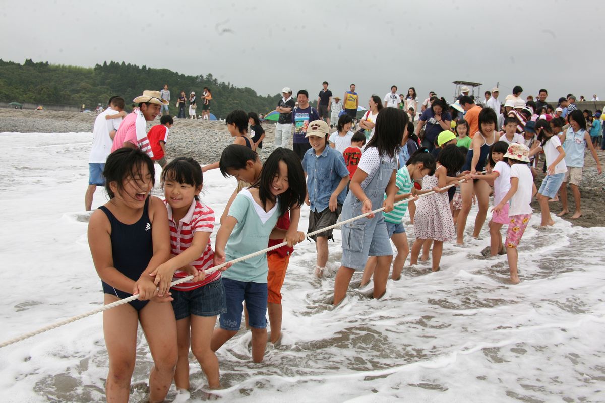
<path fill-rule="evenodd" d="M 210 346 L 216 323 L 215 316 L 191 315 L 191 351 L 206 374 L 208 387 L 212 389 L 217 389 L 221 385 L 218 376 L 218 358 Z"/>

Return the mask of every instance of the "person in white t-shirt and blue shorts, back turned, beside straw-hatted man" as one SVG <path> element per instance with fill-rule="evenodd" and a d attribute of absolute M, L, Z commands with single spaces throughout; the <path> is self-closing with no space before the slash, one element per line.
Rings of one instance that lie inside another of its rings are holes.
<path fill-rule="evenodd" d="M 88 189 L 84 196 L 84 205 L 87 211 L 92 209 L 93 195 L 97 186 L 105 186 L 105 178 L 103 178 L 105 161 L 111 153 L 113 138 L 122 123 L 121 117 L 108 119 L 106 116 L 120 114 L 123 109 L 123 98 L 113 97 L 110 99 L 108 108 L 97 115 L 94 120 L 93 147 L 90 150 L 90 158 L 88 158 Z"/>

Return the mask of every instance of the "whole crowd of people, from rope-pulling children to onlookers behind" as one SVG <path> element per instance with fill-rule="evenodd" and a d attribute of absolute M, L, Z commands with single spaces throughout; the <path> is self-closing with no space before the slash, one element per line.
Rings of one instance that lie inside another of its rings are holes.
<path fill-rule="evenodd" d="M 553 108 L 545 89 L 536 101 L 523 100 L 523 89 L 515 86 L 501 105 L 498 88 L 481 103 L 462 88 L 450 105 L 434 92 L 420 103 L 414 88 L 404 96 L 392 86 L 384 98 L 370 97 L 353 130 L 360 103 L 355 85 L 344 93 L 341 105 L 328 86 L 322 84 L 317 109 L 305 89 L 294 100 L 292 90 L 283 88 L 276 105 L 280 117 L 274 149 L 264 162 L 257 153 L 264 131 L 253 112 L 227 115 L 234 144 L 219 161 L 204 167 L 192 158 L 166 160 L 165 144 L 174 123 L 170 115 L 162 115 L 160 124 L 146 132 L 146 122 L 168 112 L 169 92 L 143 91 L 133 100 L 137 109 L 128 115 L 123 98 L 113 97 L 97 116 L 85 207 L 91 209 L 99 185 L 110 201 L 91 215 L 90 250 L 105 304 L 139 295 L 139 300 L 103 312 L 110 356 L 108 400 L 128 400 L 139 323 L 154 359 L 151 401 L 162 401 L 173 381 L 186 393 L 190 349 L 209 387 L 220 387 L 215 352 L 240 332 L 243 313 L 252 333 L 252 360 L 263 361 L 267 312 L 270 341 L 279 343 L 281 338 L 281 288 L 293 247 L 305 237 L 298 230 L 303 204 L 310 209 L 307 233 L 319 231 L 311 236 L 316 264 L 310 275 L 324 278 L 335 272 L 333 304 L 338 305 L 355 272 L 363 273 L 363 284 L 373 280 L 373 297 L 382 297 L 391 265 L 392 279 L 398 280 L 408 254 L 411 265 L 431 260 L 431 269 L 439 271 L 445 243 L 465 242 L 473 199 L 479 210 L 473 237 L 479 237 L 490 195 L 494 206 L 484 254 L 506 254 L 510 282 L 518 283 L 517 247 L 532 216 L 532 198 L 537 194 L 540 202 L 540 225 L 553 225 L 548 201 L 560 193 L 560 215 L 566 214 L 569 183 L 576 218 L 581 215 L 586 147 L 601 173 L 594 147 L 603 127 L 600 112 L 580 111 L 572 94 Z M 414 126 L 416 112 L 419 124 Z M 593 129 L 597 140 L 592 139 Z M 542 160 L 543 166 L 538 163 Z M 163 201 L 150 195 L 154 161 L 162 166 Z M 199 198 L 203 173 L 209 169 L 238 180 L 220 217 L 214 248 L 210 237 L 216 220 L 208 205 L 212 195 L 208 204 Z M 546 175 L 538 190 L 534 176 L 540 169 Z M 384 211 L 372 213 L 380 207 Z M 404 224 L 408 211 L 416 236 L 411 251 Z M 329 263 L 332 230 L 321 230 L 365 213 L 342 225 L 342 262 L 336 269 Z M 397 249 L 394 260 L 391 241 Z M 282 242 L 287 245 L 229 263 Z M 223 263 L 223 269 L 211 270 Z M 172 280 L 188 276 L 192 279 L 171 287 Z"/>

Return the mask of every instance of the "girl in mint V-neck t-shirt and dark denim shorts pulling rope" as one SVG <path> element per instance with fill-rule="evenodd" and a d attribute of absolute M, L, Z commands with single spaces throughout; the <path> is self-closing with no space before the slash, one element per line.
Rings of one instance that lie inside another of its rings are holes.
<path fill-rule="evenodd" d="M 260 179 L 243 189 L 229 208 L 217 233 L 214 265 L 258 251 L 267 245 L 269 237 L 284 239 L 286 231 L 276 228 L 278 219 L 287 210 L 301 205 L 305 193 L 298 156 L 292 150 L 275 149 L 264 163 Z M 266 254 L 235 263 L 224 271 L 227 313 L 220 316 L 220 327 L 212 334 L 213 351 L 237 335 L 242 301 L 246 301 L 252 331 L 252 361 L 263 361 L 267 344 L 267 271 Z"/>

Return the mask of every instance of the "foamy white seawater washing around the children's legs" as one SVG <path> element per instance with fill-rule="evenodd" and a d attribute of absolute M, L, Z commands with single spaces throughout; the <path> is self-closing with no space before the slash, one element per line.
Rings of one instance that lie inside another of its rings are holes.
<path fill-rule="evenodd" d="M 91 134 L 0 138 L 0 340 L 7 340 L 97 308 L 102 291 L 83 211 Z M 203 201 L 220 216 L 235 180 L 218 170 L 204 180 Z M 97 190 L 93 205 L 105 199 Z M 605 231 L 558 218 L 540 230 L 538 213 L 519 248 L 519 285 L 508 282 L 505 256 L 480 256 L 484 230 L 464 248 L 446 243 L 440 272 L 404 268 L 381 300 L 351 288 L 338 308 L 327 303 L 333 278 L 312 278 L 315 247 L 304 241 L 284 283 L 281 344 L 253 364 L 250 334 L 241 331 L 217 352 L 225 388 L 211 394 L 191 357 L 189 401 L 605 401 Z M 303 231 L 308 215 L 305 208 Z M 408 226 L 410 240 L 413 233 Z M 335 265 L 340 235 L 330 243 Z M 144 401 L 151 363 L 140 334 L 131 401 Z M 1 348 L 0 401 L 103 401 L 106 368 L 95 315 Z M 173 387 L 168 400 L 182 398 Z"/>

